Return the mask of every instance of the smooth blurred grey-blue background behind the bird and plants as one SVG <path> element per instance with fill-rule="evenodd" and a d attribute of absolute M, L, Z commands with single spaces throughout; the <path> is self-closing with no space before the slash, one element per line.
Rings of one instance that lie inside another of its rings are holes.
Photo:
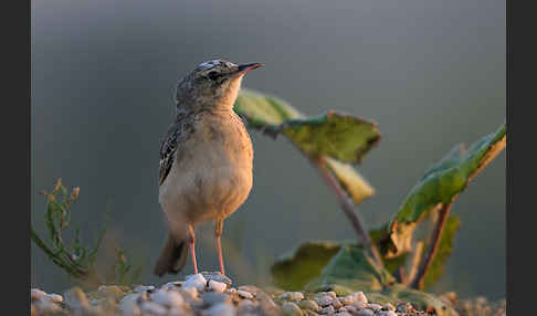
<path fill-rule="evenodd" d="M 32 225 L 44 234 L 43 189 L 81 188 L 84 241 L 107 206 L 114 245 L 151 275 L 166 236 L 158 150 L 175 86 L 199 63 L 262 62 L 243 86 L 299 110 L 338 109 L 378 123 L 379 146 L 359 171 L 376 188 L 360 213 L 388 220 L 424 170 L 452 146 L 505 120 L 505 1 L 32 1 Z M 254 187 L 224 223 L 236 283 L 265 283 L 274 259 L 307 240 L 354 239 L 336 198 L 284 138 L 251 131 Z M 455 202 L 453 256 L 432 292 L 505 297 L 505 154 Z M 198 230 L 201 270 L 217 271 L 213 228 Z M 32 287 L 72 283 L 32 244 Z M 187 265 L 185 273 L 192 273 Z M 181 277 L 181 276 L 179 276 Z"/>

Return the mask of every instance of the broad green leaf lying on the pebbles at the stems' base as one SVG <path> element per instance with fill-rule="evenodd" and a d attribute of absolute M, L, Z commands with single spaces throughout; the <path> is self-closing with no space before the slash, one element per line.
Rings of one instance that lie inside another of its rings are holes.
<path fill-rule="evenodd" d="M 432 307 L 439 316 L 456 315 L 451 306 L 434 295 L 396 283 L 388 271 L 378 266 L 361 246 L 356 245 L 343 245 L 323 270 L 322 276 L 308 283 L 306 289 L 335 291 L 338 295 L 364 291 L 370 302 L 410 302 L 421 309 Z"/>

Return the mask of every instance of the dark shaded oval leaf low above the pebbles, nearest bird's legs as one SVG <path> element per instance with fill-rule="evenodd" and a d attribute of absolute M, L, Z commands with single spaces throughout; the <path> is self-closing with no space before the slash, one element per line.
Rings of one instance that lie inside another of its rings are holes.
<path fill-rule="evenodd" d="M 339 251 L 339 243 L 310 241 L 280 257 L 271 267 L 274 283 L 288 291 L 301 291 Z"/>

